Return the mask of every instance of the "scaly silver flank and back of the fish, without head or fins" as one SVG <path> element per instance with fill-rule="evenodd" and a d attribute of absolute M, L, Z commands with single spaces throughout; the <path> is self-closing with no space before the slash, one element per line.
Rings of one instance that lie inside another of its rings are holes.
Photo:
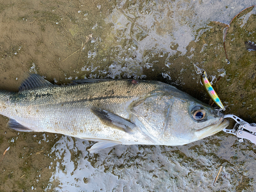
<path fill-rule="evenodd" d="M 90 112 L 90 106 L 104 106 L 105 110 L 129 118 L 129 114 L 123 110 L 124 103 L 128 106 L 132 101 L 161 87 L 158 84 L 113 80 L 26 90 L 12 93 L 7 103 L 1 100 L 1 105 L 7 109 L 2 110 L 2 114 L 15 118 L 26 127 L 33 126 L 33 131 L 71 136 L 83 134 L 85 138 L 101 138 L 101 132 L 109 132 L 111 138 L 116 135 L 116 139 L 119 139 L 117 132 L 120 131 L 103 125 Z"/>

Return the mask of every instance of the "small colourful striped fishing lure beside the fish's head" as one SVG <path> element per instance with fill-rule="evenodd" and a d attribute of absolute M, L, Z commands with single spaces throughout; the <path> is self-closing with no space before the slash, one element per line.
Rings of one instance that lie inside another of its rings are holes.
<path fill-rule="evenodd" d="M 207 75 L 205 71 L 201 73 L 201 83 L 203 84 L 210 98 L 221 108 L 221 110 L 225 111 L 225 108 L 220 98 L 218 97 L 217 93 L 214 91 L 214 88 L 212 88 L 209 80 L 207 79 Z"/>

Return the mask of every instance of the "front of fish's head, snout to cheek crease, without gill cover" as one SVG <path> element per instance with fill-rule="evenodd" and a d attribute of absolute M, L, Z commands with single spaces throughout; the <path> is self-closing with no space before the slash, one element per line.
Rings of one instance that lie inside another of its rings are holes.
<path fill-rule="evenodd" d="M 189 96 L 173 97 L 161 135 L 165 145 L 183 145 L 222 131 L 229 125 L 224 114 Z"/>

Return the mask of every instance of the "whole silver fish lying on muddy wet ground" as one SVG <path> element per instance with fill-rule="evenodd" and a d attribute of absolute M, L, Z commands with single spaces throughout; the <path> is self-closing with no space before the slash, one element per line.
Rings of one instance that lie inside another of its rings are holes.
<path fill-rule="evenodd" d="M 82 79 L 57 86 L 29 74 L 18 92 L 0 91 L 0 114 L 19 132 L 96 141 L 88 150 L 124 145 L 184 145 L 228 126 L 223 113 L 169 84 Z"/>

